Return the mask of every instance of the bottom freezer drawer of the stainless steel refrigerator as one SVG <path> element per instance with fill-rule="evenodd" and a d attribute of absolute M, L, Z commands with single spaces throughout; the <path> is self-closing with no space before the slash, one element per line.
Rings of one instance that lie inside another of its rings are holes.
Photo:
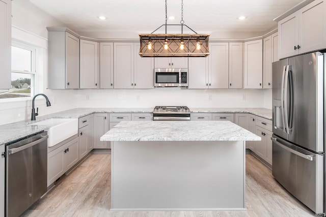
<path fill-rule="evenodd" d="M 316 213 L 323 213 L 323 154 L 315 154 L 275 135 L 273 176 L 294 197 Z"/>

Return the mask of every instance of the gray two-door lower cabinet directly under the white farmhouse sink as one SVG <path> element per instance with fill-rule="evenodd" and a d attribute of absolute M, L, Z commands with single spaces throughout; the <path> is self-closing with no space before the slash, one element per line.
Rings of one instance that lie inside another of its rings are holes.
<path fill-rule="evenodd" d="M 58 146 L 58 147 L 57 147 Z M 47 187 L 79 161 L 79 137 L 48 148 Z"/>

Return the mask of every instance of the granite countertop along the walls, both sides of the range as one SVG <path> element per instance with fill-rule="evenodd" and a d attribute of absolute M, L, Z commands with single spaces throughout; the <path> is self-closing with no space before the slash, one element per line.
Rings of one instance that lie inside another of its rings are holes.
<path fill-rule="evenodd" d="M 29 136 L 50 126 L 33 126 L 31 123 L 48 118 L 80 118 L 92 113 L 152 113 L 154 108 L 75 108 L 44 116 L 37 116 L 34 121 L 24 120 L 6 125 L 0 125 L 0 144 Z M 192 112 L 223 112 L 223 113 L 252 113 L 260 117 L 271 119 L 271 109 L 265 108 L 190 108 Z M 187 121 L 189 123 L 189 121 Z"/>

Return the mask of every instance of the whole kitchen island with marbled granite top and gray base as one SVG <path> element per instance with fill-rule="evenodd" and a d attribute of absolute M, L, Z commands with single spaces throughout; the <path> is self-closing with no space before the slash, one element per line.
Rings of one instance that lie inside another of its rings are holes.
<path fill-rule="evenodd" d="M 230 121 L 122 121 L 112 144 L 112 210 L 243 210 L 245 141 Z"/>

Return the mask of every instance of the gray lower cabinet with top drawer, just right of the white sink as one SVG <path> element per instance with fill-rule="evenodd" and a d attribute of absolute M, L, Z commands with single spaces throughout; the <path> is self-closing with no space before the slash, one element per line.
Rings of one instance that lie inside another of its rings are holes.
<path fill-rule="evenodd" d="M 94 114 L 79 118 L 79 159 L 84 158 L 93 149 Z"/>

